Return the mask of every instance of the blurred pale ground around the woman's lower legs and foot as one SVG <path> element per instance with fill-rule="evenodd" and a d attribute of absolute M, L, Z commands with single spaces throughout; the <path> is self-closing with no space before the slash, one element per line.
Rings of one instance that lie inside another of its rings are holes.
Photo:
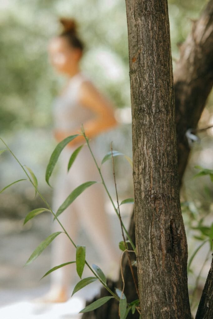
<path fill-rule="evenodd" d="M 125 205 L 124 205 L 125 206 Z M 128 223 L 131 205 L 126 205 L 123 221 Z M 120 226 L 117 216 L 110 215 L 115 243 L 121 239 Z M 47 248 L 30 265 L 23 267 L 37 245 L 50 233 L 51 220 L 45 214 L 33 220 L 30 229 L 23 228 L 23 221 L 0 219 L 0 318 L 1 319 L 79 319 L 79 311 L 85 307 L 85 301 L 92 299 L 99 291 L 99 284 L 92 283 L 85 287 L 65 303 L 39 304 L 34 298 L 42 296 L 49 289 L 48 276 L 40 278 L 50 266 L 50 249 Z M 27 225 L 26 225 L 27 226 Z M 57 239 L 56 239 L 57 240 Z M 103 264 L 89 238 L 84 231 L 80 232 L 78 244 L 85 244 L 87 260 L 98 264 L 107 274 L 108 265 Z M 120 254 L 118 249 L 118 254 Z M 73 271 L 75 268 L 73 267 Z M 83 278 L 91 276 L 85 268 Z M 70 288 L 70 295 L 74 285 L 79 281 L 77 275 Z"/>

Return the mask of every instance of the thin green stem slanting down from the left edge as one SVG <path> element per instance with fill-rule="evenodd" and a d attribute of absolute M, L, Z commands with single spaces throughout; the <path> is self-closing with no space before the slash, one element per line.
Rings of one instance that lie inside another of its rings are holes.
<path fill-rule="evenodd" d="M 67 233 L 67 231 L 65 230 L 64 226 L 61 224 L 60 220 L 57 218 L 56 214 L 54 213 L 54 211 L 51 209 L 50 205 L 48 204 L 48 202 L 46 201 L 46 199 L 43 197 L 43 195 L 41 194 L 41 192 L 39 191 L 39 189 L 36 187 L 36 185 L 34 185 L 33 181 L 31 180 L 29 174 L 27 173 L 26 169 L 24 168 L 24 166 L 20 163 L 19 159 L 15 156 L 15 154 L 11 151 L 11 149 L 7 146 L 7 144 L 4 142 L 4 140 L 0 137 L 0 140 L 3 142 L 3 144 L 6 146 L 6 148 L 8 149 L 8 151 L 11 153 L 11 155 L 15 158 L 15 160 L 19 163 L 20 167 L 23 169 L 24 173 L 27 175 L 27 178 L 29 179 L 29 182 L 33 185 L 34 189 L 37 191 L 37 193 L 39 194 L 39 196 L 41 197 L 41 199 L 43 200 L 43 202 L 46 204 L 47 208 L 49 209 L 49 211 L 53 214 L 54 218 L 57 220 L 57 222 L 59 223 L 59 225 L 62 227 L 64 233 L 67 235 L 67 237 L 69 238 L 69 240 L 72 242 L 72 244 L 74 245 L 74 247 L 76 248 L 76 244 L 74 243 L 74 241 L 72 240 L 72 238 L 69 236 L 69 234 Z M 85 264 L 87 265 L 87 267 L 92 271 L 92 273 L 95 275 L 95 277 L 101 282 L 101 284 L 109 291 L 109 293 L 116 298 L 119 301 L 118 296 L 113 293 L 111 291 L 111 289 L 96 275 L 95 271 L 92 269 L 92 267 L 87 263 L 87 261 L 85 261 Z"/>

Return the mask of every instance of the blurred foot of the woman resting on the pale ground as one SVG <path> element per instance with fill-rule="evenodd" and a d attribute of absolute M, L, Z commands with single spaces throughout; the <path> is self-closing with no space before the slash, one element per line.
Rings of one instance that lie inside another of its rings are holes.
<path fill-rule="evenodd" d="M 44 296 L 34 299 L 34 302 L 54 303 L 66 302 L 68 300 L 67 289 L 64 287 L 53 287 Z"/>

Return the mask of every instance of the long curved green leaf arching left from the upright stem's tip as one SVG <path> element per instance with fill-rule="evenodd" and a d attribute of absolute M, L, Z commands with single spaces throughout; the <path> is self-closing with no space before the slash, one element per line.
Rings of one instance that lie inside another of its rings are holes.
<path fill-rule="evenodd" d="M 45 179 L 46 182 L 49 185 L 49 178 L 53 172 L 53 169 L 57 163 L 58 157 L 61 154 L 62 150 L 65 148 L 65 146 L 71 142 L 74 138 L 76 138 L 77 136 L 79 136 L 79 134 L 76 135 L 71 135 L 66 137 L 63 141 L 61 141 L 60 143 L 58 143 L 58 145 L 56 146 L 55 150 L 53 151 L 50 159 L 49 159 L 49 163 L 47 165 L 47 169 L 46 169 L 46 175 L 45 175 Z M 50 186 L 50 185 L 49 185 Z"/>

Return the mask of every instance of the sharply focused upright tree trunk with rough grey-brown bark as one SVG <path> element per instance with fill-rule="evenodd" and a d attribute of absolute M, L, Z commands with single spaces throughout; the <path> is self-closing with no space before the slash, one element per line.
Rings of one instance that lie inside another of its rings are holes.
<path fill-rule="evenodd" d="M 143 319 L 191 318 L 167 0 L 126 0 Z"/>

